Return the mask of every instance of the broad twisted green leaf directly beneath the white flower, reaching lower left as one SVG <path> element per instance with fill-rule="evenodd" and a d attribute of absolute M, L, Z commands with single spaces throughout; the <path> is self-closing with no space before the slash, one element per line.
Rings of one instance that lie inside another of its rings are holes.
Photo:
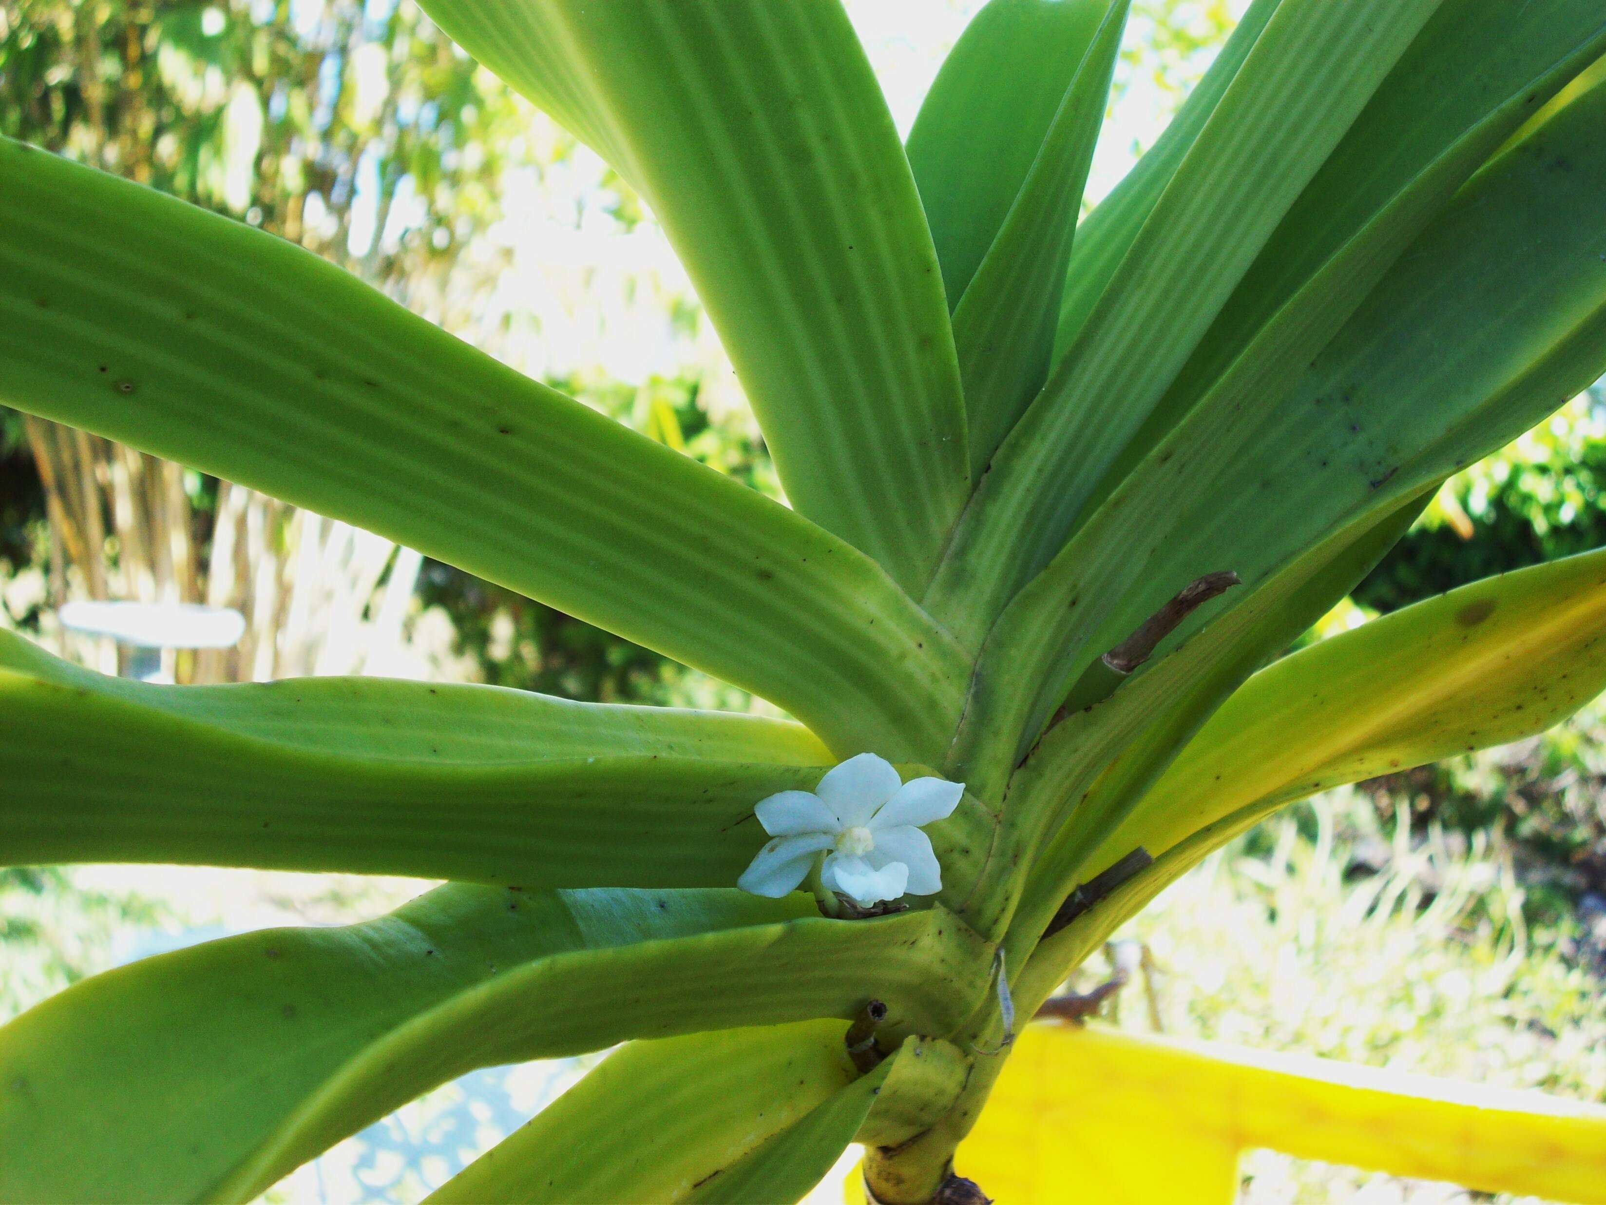
<path fill-rule="evenodd" d="M 120 967 L 0 1028 L 0 1200 L 249 1200 L 474 1067 L 848 1019 L 872 996 L 941 1030 L 984 990 L 988 953 L 940 909 L 813 913 L 801 895 L 453 885 L 368 924 Z"/>

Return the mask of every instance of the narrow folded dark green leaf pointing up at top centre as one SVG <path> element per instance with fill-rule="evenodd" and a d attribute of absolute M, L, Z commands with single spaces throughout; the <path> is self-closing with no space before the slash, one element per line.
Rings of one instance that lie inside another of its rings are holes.
<path fill-rule="evenodd" d="M 1063 5 L 1070 6 L 1070 5 Z M 1129 0 L 1107 8 L 993 247 L 954 312 L 954 347 L 980 477 L 1049 374 L 1065 260 L 1103 124 Z M 986 162 L 986 159 L 983 159 Z"/>

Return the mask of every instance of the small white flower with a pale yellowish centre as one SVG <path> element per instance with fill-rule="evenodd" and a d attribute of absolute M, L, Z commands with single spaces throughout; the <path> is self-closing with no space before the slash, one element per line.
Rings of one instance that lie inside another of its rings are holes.
<path fill-rule="evenodd" d="M 814 790 L 782 790 L 753 811 L 774 840 L 742 871 L 737 887 L 777 898 L 808 876 L 825 853 L 821 882 L 861 908 L 899 895 L 935 895 L 943 869 L 920 824 L 946 819 L 965 794 L 941 778 L 898 779 L 875 754 L 850 757 Z"/>

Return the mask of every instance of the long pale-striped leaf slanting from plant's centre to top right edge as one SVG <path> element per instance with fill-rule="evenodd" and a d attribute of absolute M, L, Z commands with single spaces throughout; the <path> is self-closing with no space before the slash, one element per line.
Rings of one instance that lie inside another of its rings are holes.
<path fill-rule="evenodd" d="M 1441 0 L 1283 0 L 1110 289 L 999 447 L 930 593 L 962 639 L 1058 551 L 1115 456 Z"/>

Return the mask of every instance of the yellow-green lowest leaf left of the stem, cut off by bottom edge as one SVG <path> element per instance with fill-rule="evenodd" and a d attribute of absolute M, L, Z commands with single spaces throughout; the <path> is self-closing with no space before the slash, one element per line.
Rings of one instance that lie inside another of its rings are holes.
<path fill-rule="evenodd" d="M 805 1022 L 631 1043 L 430 1205 L 692 1200 L 854 1083 L 843 1033 L 840 1022 Z"/>

